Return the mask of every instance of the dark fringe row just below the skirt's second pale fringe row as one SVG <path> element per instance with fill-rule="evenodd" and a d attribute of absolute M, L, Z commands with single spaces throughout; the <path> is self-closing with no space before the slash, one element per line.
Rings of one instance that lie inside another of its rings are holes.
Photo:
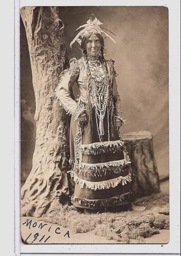
<path fill-rule="evenodd" d="M 85 177 L 110 177 L 114 174 L 120 174 L 127 170 L 130 170 L 131 165 L 126 164 L 125 166 L 116 166 L 116 167 L 109 167 L 104 169 L 96 169 L 96 170 L 87 170 L 85 169 L 75 169 L 74 172 L 77 175 L 83 175 Z"/>

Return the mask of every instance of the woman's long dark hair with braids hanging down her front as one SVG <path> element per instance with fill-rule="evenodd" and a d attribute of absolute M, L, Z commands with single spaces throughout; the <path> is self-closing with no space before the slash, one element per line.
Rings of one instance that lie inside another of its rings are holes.
<path fill-rule="evenodd" d="M 90 33 L 86 34 L 82 39 L 81 48 L 83 50 L 87 49 L 87 42 L 89 41 L 89 38 L 91 37 L 92 34 L 96 35 L 100 40 L 100 43 L 101 43 L 100 61 L 102 62 L 102 65 L 104 66 L 106 74 L 108 76 L 108 70 L 107 70 L 107 66 L 106 66 L 106 62 L 105 62 L 105 58 L 104 58 L 104 39 L 101 36 L 101 34 L 96 33 L 96 32 L 90 32 Z M 92 127 L 93 127 L 92 124 L 93 124 L 93 122 L 92 122 L 92 104 L 91 104 L 91 90 L 92 90 L 92 87 L 91 87 L 91 71 L 89 69 L 89 63 L 88 63 L 87 56 L 83 56 L 83 58 L 85 60 L 86 69 L 87 69 L 88 91 L 89 91 L 88 106 L 87 106 L 87 120 L 88 120 L 88 126 L 89 126 L 88 129 L 90 129 L 90 131 L 91 131 L 90 136 L 92 136 Z M 110 85 L 110 87 L 111 87 L 111 85 Z M 112 119 L 113 112 L 111 111 L 110 114 L 111 114 L 111 120 L 114 122 L 114 118 Z M 110 124 L 112 126 L 113 123 L 110 122 Z"/>

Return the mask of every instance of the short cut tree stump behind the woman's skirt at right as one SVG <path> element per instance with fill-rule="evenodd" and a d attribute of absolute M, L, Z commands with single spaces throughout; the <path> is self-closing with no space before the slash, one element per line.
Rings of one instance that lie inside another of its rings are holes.
<path fill-rule="evenodd" d="M 122 135 L 132 166 L 132 199 L 160 192 L 153 152 L 153 136 L 148 131 Z"/>

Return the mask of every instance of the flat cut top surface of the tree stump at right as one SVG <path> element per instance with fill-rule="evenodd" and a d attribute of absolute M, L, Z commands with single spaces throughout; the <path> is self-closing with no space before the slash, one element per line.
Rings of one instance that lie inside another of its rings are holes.
<path fill-rule="evenodd" d="M 129 132 L 129 133 L 122 134 L 122 138 L 123 140 L 127 140 L 127 141 L 144 140 L 144 139 L 151 140 L 152 134 L 149 131 Z"/>

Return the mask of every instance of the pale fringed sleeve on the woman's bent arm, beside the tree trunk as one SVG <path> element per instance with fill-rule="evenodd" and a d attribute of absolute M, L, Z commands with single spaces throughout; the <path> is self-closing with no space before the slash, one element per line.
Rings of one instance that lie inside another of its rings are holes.
<path fill-rule="evenodd" d="M 61 74 L 58 86 L 53 93 L 53 97 L 57 100 L 60 106 L 65 109 L 67 114 L 71 114 L 75 120 L 78 120 L 85 108 L 77 104 L 71 98 L 71 90 L 73 84 L 79 77 L 80 69 L 76 58 L 72 58 L 69 64 L 70 68 L 64 70 Z"/>

